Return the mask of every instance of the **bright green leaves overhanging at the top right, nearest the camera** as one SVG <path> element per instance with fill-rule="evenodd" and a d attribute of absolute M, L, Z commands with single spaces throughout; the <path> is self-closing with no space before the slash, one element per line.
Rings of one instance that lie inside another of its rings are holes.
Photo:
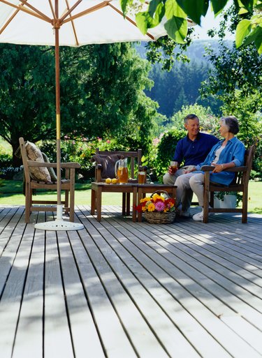
<path fill-rule="evenodd" d="M 262 53 L 262 1 L 261 0 L 233 0 L 242 19 L 238 22 L 235 43 L 237 47 L 254 43 L 259 54 Z M 143 3 L 140 0 L 140 3 Z M 152 0 L 147 10 L 142 11 L 137 1 L 120 0 L 122 10 L 126 14 L 136 3 L 136 23 L 142 33 L 156 27 L 166 16 L 164 27 L 168 36 L 176 43 L 184 44 L 187 36 L 187 17 L 201 24 L 201 16 L 205 16 L 211 5 L 214 15 L 221 13 L 227 0 Z M 246 18 L 247 15 L 252 15 Z"/>

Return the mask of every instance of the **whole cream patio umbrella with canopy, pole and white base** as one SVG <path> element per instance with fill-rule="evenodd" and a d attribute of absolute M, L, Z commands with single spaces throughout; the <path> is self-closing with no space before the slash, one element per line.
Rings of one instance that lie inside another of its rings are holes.
<path fill-rule="evenodd" d="M 54 222 L 36 224 L 35 228 L 83 228 L 62 219 L 59 45 L 148 41 L 165 35 L 166 30 L 160 25 L 144 36 L 131 16 L 124 19 L 118 0 L 0 0 L 1 43 L 55 46 L 57 218 Z"/>

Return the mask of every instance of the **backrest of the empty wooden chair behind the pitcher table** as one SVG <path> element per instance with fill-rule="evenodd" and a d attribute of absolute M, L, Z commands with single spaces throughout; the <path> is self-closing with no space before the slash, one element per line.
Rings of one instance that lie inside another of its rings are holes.
<path fill-rule="evenodd" d="M 96 148 L 96 155 L 93 157 L 97 161 L 97 156 L 104 156 L 105 158 L 111 158 L 111 165 L 113 165 L 113 170 L 115 170 L 115 162 L 117 158 L 129 158 L 129 178 L 136 179 L 136 167 L 140 167 L 142 164 L 142 149 L 138 149 L 137 151 L 99 151 L 99 148 Z M 106 176 L 105 176 L 106 177 Z M 105 177 L 101 177 L 101 172 L 96 170 L 95 181 L 103 181 Z"/>

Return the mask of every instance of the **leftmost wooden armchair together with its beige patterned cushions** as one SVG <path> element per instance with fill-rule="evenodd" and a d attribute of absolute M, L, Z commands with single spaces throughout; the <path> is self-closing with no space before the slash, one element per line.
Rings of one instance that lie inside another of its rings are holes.
<path fill-rule="evenodd" d="M 57 211 L 57 207 L 50 206 L 57 204 L 57 200 L 33 200 L 33 191 L 36 189 L 56 190 L 57 181 L 52 168 L 57 167 L 57 163 L 45 163 L 43 154 L 35 144 L 24 142 L 24 138 L 20 137 L 20 151 L 22 163 L 24 166 L 24 185 L 25 185 L 25 223 L 29 223 L 31 211 Z M 29 160 L 29 149 L 27 144 L 31 145 L 31 149 L 35 150 L 38 158 Z M 74 205 L 75 205 L 75 169 L 80 168 L 79 163 L 61 163 L 61 168 L 65 169 L 65 179 L 61 180 L 61 191 L 65 191 L 64 204 L 66 214 L 69 213 L 70 221 L 74 221 Z M 70 193 L 70 195 L 69 195 Z M 34 204 L 45 204 L 45 206 L 34 206 Z"/>

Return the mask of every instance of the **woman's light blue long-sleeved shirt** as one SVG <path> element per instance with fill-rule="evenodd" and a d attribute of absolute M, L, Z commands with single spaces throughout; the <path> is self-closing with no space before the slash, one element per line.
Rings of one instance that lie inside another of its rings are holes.
<path fill-rule="evenodd" d="M 224 140 L 221 140 L 217 144 L 214 144 L 212 149 L 210 150 L 210 154 L 205 158 L 203 163 L 200 163 L 196 166 L 196 169 L 199 171 L 203 165 L 211 165 L 215 158 L 215 152 L 222 145 Z M 219 160 L 217 164 L 223 163 L 231 163 L 234 162 L 236 167 L 240 167 L 244 164 L 245 158 L 245 146 L 238 138 L 233 137 L 231 140 L 228 140 L 226 143 L 226 147 L 221 151 L 219 155 Z M 203 173 L 203 172 L 202 172 Z M 229 185 L 235 178 L 234 172 L 220 172 L 220 173 L 212 173 L 210 174 L 210 181 L 219 184 Z"/>

